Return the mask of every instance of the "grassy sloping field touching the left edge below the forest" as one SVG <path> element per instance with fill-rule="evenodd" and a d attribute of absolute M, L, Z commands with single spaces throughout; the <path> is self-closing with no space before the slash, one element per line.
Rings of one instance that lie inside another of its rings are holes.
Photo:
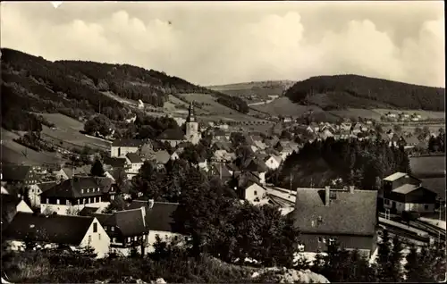
<path fill-rule="evenodd" d="M 26 163 L 30 165 L 41 165 L 43 163 L 63 163 L 63 158 L 56 153 L 36 152 L 26 146 L 21 146 L 13 141 L 19 136 L 6 129 L 2 130 L 2 162 L 4 163 Z"/>

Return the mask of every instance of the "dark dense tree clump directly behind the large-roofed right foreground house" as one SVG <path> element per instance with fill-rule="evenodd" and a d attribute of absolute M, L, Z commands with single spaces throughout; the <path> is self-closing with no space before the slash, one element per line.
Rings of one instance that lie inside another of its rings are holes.
<path fill-rule="evenodd" d="M 326 138 L 308 142 L 288 156 L 276 183 L 289 188 L 292 176 L 294 188 L 354 185 L 379 189 L 381 180 L 396 171 L 411 171 L 403 147 L 390 147 L 384 140 Z"/>

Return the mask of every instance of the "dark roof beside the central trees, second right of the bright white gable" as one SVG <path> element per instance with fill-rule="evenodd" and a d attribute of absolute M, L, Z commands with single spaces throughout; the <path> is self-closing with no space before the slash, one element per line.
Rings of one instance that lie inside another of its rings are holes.
<path fill-rule="evenodd" d="M 181 205 L 175 203 L 155 202 L 148 211 L 149 230 L 180 232 L 176 225 L 176 214 L 181 213 Z"/>

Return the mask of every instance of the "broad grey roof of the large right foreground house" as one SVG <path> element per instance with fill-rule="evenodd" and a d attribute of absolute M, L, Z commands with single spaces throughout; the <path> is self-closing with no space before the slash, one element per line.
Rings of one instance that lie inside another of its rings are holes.
<path fill-rule="evenodd" d="M 336 195 L 336 200 L 325 206 L 325 189 L 299 188 L 291 213 L 295 226 L 302 233 L 373 235 L 377 191 L 338 191 Z M 320 216 L 322 221 L 318 222 Z"/>

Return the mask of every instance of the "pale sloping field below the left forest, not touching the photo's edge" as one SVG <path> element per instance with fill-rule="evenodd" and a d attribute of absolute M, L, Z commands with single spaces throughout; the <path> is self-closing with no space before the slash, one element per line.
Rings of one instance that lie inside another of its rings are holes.
<path fill-rule="evenodd" d="M 76 121 L 60 113 L 43 113 L 41 115 L 46 120 L 55 123 L 55 129 L 50 129 L 45 125 L 42 127 L 42 138 L 47 141 L 51 141 L 65 148 L 82 148 L 83 146 L 102 150 L 110 148 L 110 142 L 97 138 L 89 138 L 81 134 L 80 130 L 84 128 L 84 125 L 80 121 Z"/>

